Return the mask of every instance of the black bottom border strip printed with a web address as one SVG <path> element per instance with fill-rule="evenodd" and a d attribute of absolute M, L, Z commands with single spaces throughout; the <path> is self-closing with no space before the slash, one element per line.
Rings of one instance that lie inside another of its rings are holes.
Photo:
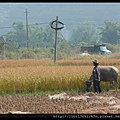
<path fill-rule="evenodd" d="M 120 119 L 120 114 L 1 114 L 0 119 L 3 118 L 49 118 L 49 119 L 68 119 L 68 118 L 119 118 Z"/>

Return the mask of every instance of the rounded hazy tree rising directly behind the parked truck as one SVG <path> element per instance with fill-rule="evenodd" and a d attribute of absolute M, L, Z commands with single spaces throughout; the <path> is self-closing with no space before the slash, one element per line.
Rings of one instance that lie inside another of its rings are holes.
<path fill-rule="evenodd" d="M 96 25 L 95 22 L 82 22 L 74 27 L 73 33 L 69 40 L 69 44 L 72 47 L 76 47 L 77 45 L 93 45 L 100 42 L 100 29 L 99 26 Z"/>

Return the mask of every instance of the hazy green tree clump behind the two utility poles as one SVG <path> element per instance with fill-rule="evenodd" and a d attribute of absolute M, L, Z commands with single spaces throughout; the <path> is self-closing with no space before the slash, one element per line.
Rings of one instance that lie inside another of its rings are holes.
<path fill-rule="evenodd" d="M 13 30 L 10 30 L 6 35 L 7 38 L 12 38 L 10 43 L 18 48 L 28 47 L 35 48 L 50 48 L 54 46 L 55 31 L 47 25 L 44 29 L 39 24 L 28 26 L 28 38 L 26 34 L 26 25 L 23 21 L 13 23 Z M 65 41 L 61 31 L 58 31 L 57 45 Z M 12 45 L 11 44 L 11 45 Z"/>

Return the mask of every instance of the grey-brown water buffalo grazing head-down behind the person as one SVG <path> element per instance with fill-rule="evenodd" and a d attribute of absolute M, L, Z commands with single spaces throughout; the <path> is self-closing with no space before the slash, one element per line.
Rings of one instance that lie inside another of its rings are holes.
<path fill-rule="evenodd" d="M 116 82 L 116 91 L 118 89 L 118 77 L 119 70 L 114 66 L 99 66 L 100 69 L 100 80 L 104 82 L 110 82 L 109 89 L 113 86 L 113 82 Z M 89 92 L 90 87 L 92 85 L 93 76 L 91 75 L 89 80 L 86 81 L 86 91 Z"/>

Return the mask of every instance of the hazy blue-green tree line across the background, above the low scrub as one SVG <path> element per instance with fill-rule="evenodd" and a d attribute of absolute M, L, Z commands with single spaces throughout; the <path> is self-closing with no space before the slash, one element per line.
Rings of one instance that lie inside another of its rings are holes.
<path fill-rule="evenodd" d="M 26 26 L 24 21 L 14 22 L 12 29 L 4 36 L 8 40 L 5 45 L 7 53 L 23 52 L 23 49 L 26 49 Z M 29 49 L 32 49 L 32 51 L 44 51 L 44 53 L 53 54 L 54 40 L 55 32 L 50 25 L 46 25 L 45 28 L 38 23 L 28 26 Z M 80 52 L 81 46 L 102 43 L 108 44 L 113 52 L 116 50 L 113 46 L 120 44 L 120 23 L 111 20 L 105 20 L 104 25 L 97 25 L 94 21 L 79 22 L 74 26 L 69 40 L 66 40 L 62 32 L 58 30 L 57 51 L 62 55 L 68 54 L 70 50 Z"/>

